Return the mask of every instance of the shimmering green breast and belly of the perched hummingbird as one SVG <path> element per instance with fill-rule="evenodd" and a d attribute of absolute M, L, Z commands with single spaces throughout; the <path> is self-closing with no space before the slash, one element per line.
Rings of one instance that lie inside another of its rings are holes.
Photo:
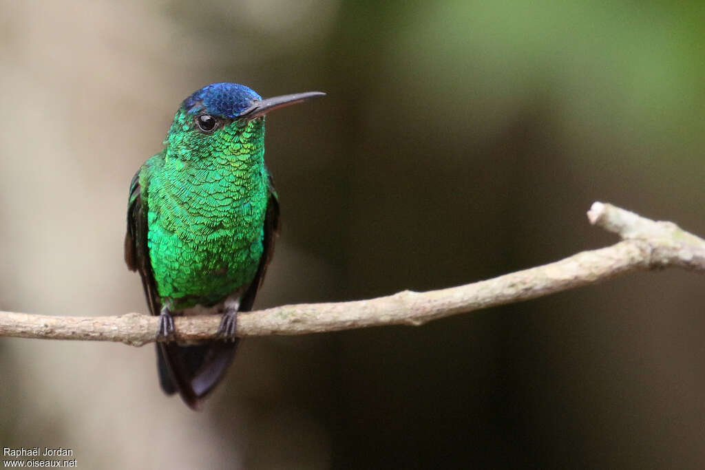
<path fill-rule="evenodd" d="M 149 257 L 159 295 L 174 309 L 215 304 L 255 277 L 269 175 L 257 164 L 262 155 L 252 157 L 147 163 Z"/>

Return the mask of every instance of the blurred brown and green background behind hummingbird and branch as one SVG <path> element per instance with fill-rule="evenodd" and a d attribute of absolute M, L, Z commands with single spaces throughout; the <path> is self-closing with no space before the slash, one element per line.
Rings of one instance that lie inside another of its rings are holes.
<path fill-rule="evenodd" d="M 146 311 L 130 178 L 210 82 L 263 96 L 283 233 L 258 307 L 498 276 L 615 242 L 595 200 L 705 234 L 705 6 L 0 3 L 0 309 Z M 705 467 L 703 278 L 637 273 L 419 328 L 243 342 L 201 413 L 154 348 L 0 341 L 0 447 L 80 468 Z"/>

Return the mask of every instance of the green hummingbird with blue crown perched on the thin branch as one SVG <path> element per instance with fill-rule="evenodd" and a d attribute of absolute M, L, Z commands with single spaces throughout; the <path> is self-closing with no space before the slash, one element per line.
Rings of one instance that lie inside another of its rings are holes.
<path fill-rule="evenodd" d="M 197 409 L 233 361 L 274 252 L 279 204 L 264 164 L 264 118 L 321 92 L 262 99 L 213 83 L 176 111 L 164 149 L 130 183 L 125 262 L 159 316 L 157 366 L 167 395 Z M 220 314 L 217 338 L 174 341 L 174 315 Z"/>

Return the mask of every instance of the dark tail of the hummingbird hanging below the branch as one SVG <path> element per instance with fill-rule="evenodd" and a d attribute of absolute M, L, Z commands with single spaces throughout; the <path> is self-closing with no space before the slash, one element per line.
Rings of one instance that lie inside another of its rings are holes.
<path fill-rule="evenodd" d="M 157 355 L 161 388 L 167 395 L 179 391 L 183 401 L 197 409 L 200 401 L 225 375 L 237 347 L 237 339 L 192 346 L 160 342 Z"/>

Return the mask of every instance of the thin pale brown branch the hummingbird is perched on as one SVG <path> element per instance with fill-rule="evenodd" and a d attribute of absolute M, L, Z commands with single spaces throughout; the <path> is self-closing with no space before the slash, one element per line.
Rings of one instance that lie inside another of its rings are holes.
<path fill-rule="evenodd" d="M 534 299 L 598 283 L 615 276 L 678 266 L 705 271 L 705 240 L 670 222 L 655 222 L 596 202 L 590 223 L 623 241 L 569 256 L 555 263 L 479 283 L 429 292 L 405 290 L 387 297 L 322 304 L 285 305 L 238 315 L 238 336 L 301 335 L 381 325 L 421 325 L 427 321 L 486 307 Z M 214 338 L 219 315 L 178 316 L 177 340 Z M 0 336 L 56 340 L 100 340 L 144 345 L 154 342 L 157 317 L 47 316 L 0 311 Z"/>

